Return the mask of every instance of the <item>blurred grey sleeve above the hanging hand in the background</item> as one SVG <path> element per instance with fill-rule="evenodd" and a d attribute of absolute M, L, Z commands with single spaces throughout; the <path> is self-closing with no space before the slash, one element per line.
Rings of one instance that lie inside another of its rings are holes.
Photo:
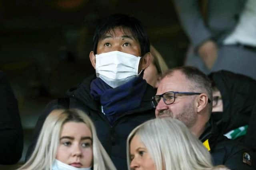
<path fill-rule="evenodd" d="M 197 49 L 212 37 L 211 31 L 204 24 L 198 0 L 173 0 L 173 2 L 182 27 Z"/>

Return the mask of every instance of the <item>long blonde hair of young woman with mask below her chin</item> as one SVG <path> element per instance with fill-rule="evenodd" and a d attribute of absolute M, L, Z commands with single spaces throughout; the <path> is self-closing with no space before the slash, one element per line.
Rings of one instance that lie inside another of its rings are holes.
<path fill-rule="evenodd" d="M 69 121 L 83 122 L 92 132 L 93 169 L 116 170 L 96 135 L 94 124 L 78 109 L 56 109 L 48 115 L 30 159 L 18 170 L 52 170 L 62 126 Z"/>

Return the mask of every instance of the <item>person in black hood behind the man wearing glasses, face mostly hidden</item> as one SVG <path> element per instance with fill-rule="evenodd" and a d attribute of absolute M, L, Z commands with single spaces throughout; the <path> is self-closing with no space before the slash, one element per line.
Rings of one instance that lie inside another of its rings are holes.
<path fill-rule="evenodd" d="M 209 75 L 213 88 L 212 117 L 220 134 L 242 141 L 256 152 L 256 80 L 226 70 Z"/>

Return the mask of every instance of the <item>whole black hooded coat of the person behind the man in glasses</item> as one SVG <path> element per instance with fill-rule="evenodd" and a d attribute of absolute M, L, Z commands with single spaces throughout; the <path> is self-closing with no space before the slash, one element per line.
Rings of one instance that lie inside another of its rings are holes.
<path fill-rule="evenodd" d="M 222 136 L 233 129 L 248 125 L 247 134 L 232 142 L 240 142 L 250 149 L 250 156 L 255 160 L 256 80 L 226 70 L 213 72 L 209 77 L 222 96 L 223 112 L 212 114 L 214 121 L 218 124 L 219 134 Z M 254 111 L 253 108 L 255 108 Z M 252 166 L 256 169 L 254 160 L 252 160 Z"/>

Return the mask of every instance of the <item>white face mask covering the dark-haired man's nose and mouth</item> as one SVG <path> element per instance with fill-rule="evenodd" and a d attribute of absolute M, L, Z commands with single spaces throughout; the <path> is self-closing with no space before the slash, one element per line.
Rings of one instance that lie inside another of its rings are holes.
<path fill-rule="evenodd" d="M 112 88 L 138 77 L 140 58 L 120 51 L 96 55 L 96 76 Z"/>

